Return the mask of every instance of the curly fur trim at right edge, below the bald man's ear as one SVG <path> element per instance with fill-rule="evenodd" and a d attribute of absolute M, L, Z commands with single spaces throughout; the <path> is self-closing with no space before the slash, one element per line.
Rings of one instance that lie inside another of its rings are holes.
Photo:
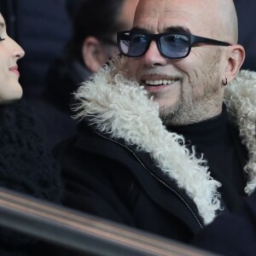
<path fill-rule="evenodd" d="M 227 87 L 225 103 L 248 150 L 249 160 L 244 170 L 249 177 L 245 192 L 250 195 L 256 187 L 256 73 L 242 70 Z"/>

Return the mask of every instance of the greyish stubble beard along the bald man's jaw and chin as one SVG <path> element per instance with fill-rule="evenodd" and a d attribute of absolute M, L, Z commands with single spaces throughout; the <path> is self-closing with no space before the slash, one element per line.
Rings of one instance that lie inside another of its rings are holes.
<path fill-rule="evenodd" d="M 185 88 L 181 85 L 174 105 L 160 107 L 160 119 L 164 125 L 189 125 L 218 115 L 223 101 L 220 92 L 221 79 L 218 77 L 220 57 L 221 50 L 218 50 L 212 61 L 208 63 L 207 70 L 202 70 L 201 84 L 204 84 L 204 90 L 201 95 L 192 93 L 191 96 L 187 96 Z M 189 86 L 196 86 L 196 84 L 189 84 Z M 151 94 L 150 96 L 157 99 L 161 95 Z"/>

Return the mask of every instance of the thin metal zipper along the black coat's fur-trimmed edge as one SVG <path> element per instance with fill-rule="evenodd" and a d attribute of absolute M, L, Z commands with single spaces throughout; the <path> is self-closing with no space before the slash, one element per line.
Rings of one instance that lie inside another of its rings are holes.
<path fill-rule="evenodd" d="M 150 171 L 148 170 L 148 168 L 143 164 L 143 162 L 137 157 L 137 154 L 135 154 L 135 153 L 131 150 L 131 148 L 128 148 L 125 144 L 119 143 L 119 142 L 113 140 L 112 138 L 105 137 L 105 136 L 103 136 L 102 134 L 100 134 L 100 133 L 98 133 L 98 132 L 96 132 L 96 134 L 97 134 L 98 136 L 103 137 L 103 138 L 107 139 L 108 141 L 111 141 L 111 142 L 113 142 L 113 143 L 115 143 L 115 144 L 118 144 L 118 145 L 121 146 L 122 148 L 125 148 L 125 149 L 127 149 L 128 151 L 130 151 L 131 154 L 133 154 L 133 156 L 137 159 L 137 161 L 143 166 L 143 168 L 144 168 L 152 177 L 154 177 L 158 182 L 162 183 L 167 189 L 170 189 L 174 194 L 177 195 L 177 197 L 178 197 L 181 201 L 183 201 L 183 204 L 189 209 L 189 212 L 191 212 L 191 214 L 192 214 L 193 217 L 195 218 L 197 224 L 199 224 L 199 226 L 201 227 L 201 229 L 203 229 L 204 225 L 201 224 L 200 219 L 196 216 L 195 212 L 191 209 L 191 207 L 189 207 L 189 203 L 188 203 L 187 201 L 185 201 L 185 199 L 183 198 L 183 196 L 180 195 L 175 189 L 172 189 L 167 183 L 165 183 L 164 181 L 162 181 L 162 180 L 160 179 L 160 177 L 157 177 L 157 176 L 154 175 L 154 173 L 150 172 Z"/>

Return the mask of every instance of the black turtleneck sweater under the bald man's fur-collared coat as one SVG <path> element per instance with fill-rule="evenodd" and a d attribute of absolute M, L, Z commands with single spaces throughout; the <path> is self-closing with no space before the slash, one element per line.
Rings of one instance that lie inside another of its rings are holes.
<path fill-rule="evenodd" d="M 226 107 L 215 118 L 192 125 L 170 126 L 169 131 L 183 135 L 187 148 L 195 146 L 198 157 L 207 160 L 211 176 L 222 183 L 218 191 L 225 208 L 234 210 L 245 196 L 247 149 L 241 144 L 236 126 L 231 123 Z"/>

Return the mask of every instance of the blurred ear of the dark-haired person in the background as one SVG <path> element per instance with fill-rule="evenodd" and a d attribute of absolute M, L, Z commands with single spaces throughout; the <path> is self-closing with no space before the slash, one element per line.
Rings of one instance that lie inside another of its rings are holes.
<path fill-rule="evenodd" d="M 101 42 L 95 37 L 84 39 L 82 46 L 84 64 L 92 73 L 96 73 L 102 67 L 102 47 Z"/>

